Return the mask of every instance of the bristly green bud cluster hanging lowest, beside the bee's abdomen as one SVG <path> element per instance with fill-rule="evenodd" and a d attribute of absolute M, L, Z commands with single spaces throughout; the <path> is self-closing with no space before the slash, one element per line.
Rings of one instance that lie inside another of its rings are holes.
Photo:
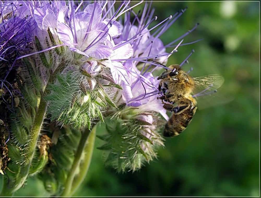
<path fill-rule="evenodd" d="M 156 158 L 163 137 L 157 132 L 159 117 L 141 114 L 136 108 L 125 107 L 105 119 L 106 133 L 97 136 L 104 141 L 98 149 L 104 151 L 105 164 L 119 172 L 136 171 L 144 162 Z"/>

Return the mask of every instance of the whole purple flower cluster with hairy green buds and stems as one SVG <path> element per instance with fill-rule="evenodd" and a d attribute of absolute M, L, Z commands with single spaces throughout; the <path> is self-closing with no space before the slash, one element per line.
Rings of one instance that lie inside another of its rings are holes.
<path fill-rule="evenodd" d="M 140 4 L 143 11 L 135 13 Z M 38 174 L 51 194 L 72 194 L 77 167 L 86 164 L 79 156 L 93 148 L 85 146 L 92 138 L 85 133 L 96 123 L 106 129 L 97 134 L 105 163 L 118 171 L 141 168 L 164 145 L 160 130 L 168 116 L 153 72 L 168 69 L 179 46 L 198 41 L 182 43 L 197 25 L 164 45 L 159 37 L 186 9 L 151 27 L 152 2 L 115 5 L 0 2 L 0 108 L 15 104 L 0 113 L 0 173 L 13 186 L 4 193 Z"/>

